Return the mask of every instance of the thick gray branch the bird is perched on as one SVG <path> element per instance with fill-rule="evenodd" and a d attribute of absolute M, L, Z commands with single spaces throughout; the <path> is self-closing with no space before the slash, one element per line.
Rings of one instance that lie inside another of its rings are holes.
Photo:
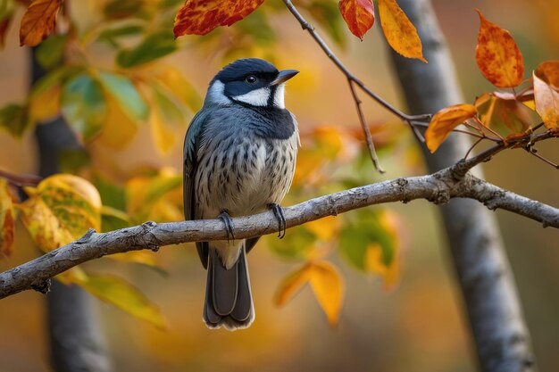
<path fill-rule="evenodd" d="M 447 203 L 451 198 L 467 197 L 484 203 L 488 208 L 513 211 L 541 222 L 545 227 L 559 228 L 559 210 L 532 201 L 518 194 L 466 174 L 455 178 L 452 168 L 429 176 L 398 178 L 368 186 L 355 187 L 329 194 L 284 209 L 288 227 L 336 216 L 373 204 L 410 202 L 426 199 L 432 203 Z M 277 220 L 271 211 L 233 219 L 238 239 L 263 236 L 277 232 Z M 46 288 L 46 281 L 82 262 L 107 254 L 157 250 L 160 246 L 207 240 L 225 240 L 227 233 L 219 219 L 194 220 L 122 228 L 97 234 L 93 230 L 78 241 L 46 253 L 0 274 L 0 298 L 27 289 Z"/>

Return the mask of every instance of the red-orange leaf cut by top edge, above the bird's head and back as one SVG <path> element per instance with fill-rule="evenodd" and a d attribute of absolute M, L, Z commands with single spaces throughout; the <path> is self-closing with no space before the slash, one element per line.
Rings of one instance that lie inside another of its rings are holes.
<path fill-rule="evenodd" d="M 254 12 L 264 0 L 187 0 L 175 17 L 175 37 L 205 35 L 230 26 Z"/>

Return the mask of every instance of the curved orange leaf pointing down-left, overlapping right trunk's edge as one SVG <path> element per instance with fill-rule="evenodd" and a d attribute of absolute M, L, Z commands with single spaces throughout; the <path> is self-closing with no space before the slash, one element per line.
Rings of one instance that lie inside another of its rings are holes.
<path fill-rule="evenodd" d="M 476 116 L 477 112 L 471 104 L 455 104 L 437 112 L 425 131 L 425 143 L 429 151 L 435 153 L 454 128 Z"/>

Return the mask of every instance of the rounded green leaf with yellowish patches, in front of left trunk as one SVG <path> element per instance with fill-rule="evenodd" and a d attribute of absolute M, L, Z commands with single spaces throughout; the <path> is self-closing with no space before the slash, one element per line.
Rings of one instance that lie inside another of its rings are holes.
<path fill-rule="evenodd" d="M 69 80 L 63 87 L 62 111 L 85 141 L 93 139 L 103 128 L 107 114 L 101 84 L 85 74 Z"/>

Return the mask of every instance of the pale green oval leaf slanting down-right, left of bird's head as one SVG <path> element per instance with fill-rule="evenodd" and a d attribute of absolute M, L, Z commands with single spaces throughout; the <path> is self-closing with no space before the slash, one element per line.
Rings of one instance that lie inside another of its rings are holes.
<path fill-rule="evenodd" d="M 130 79 L 106 71 L 99 74 L 99 79 L 130 119 L 146 120 L 149 108 Z"/>

